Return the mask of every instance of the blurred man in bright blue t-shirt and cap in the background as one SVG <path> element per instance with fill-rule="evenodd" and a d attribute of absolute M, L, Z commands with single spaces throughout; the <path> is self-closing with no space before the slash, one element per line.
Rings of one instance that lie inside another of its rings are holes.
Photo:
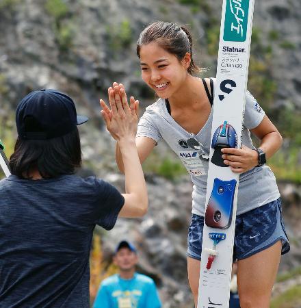
<path fill-rule="evenodd" d="M 138 256 L 135 246 L 121 241 L 115 251 L 114 264 L 119 273 L 103 280 L 94 308 L 159 308 L 161 302 L 153 279 L 135 271 Z"/>

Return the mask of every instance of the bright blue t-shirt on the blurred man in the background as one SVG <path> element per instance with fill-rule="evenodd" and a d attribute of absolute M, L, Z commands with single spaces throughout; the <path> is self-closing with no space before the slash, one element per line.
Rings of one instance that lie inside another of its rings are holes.
<path fill-rule="evenodd" d="M 159 308 L 161 303 L 150 277 L 135 273 L 132 279 L 115 274 L 105 279 L 94 301 L 94 308 Z"/>

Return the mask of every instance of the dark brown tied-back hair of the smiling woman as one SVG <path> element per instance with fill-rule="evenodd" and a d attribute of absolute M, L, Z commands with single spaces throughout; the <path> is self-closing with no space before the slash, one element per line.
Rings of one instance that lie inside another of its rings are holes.
<path fill-rule="evenodd" d="M 150 23 L 140 34 L 137 41 L 137 55 L 140 57 L 142 45 L 157 42 L 161 48 L 175 55 L 179 61 L 183 60 L 185 53 L 190 53 L 191 62 L 187 72 L 190 75 L 200 72 L 192 58 L 192 35 L 189 30 L 175 23 L 155 21 Z"/>

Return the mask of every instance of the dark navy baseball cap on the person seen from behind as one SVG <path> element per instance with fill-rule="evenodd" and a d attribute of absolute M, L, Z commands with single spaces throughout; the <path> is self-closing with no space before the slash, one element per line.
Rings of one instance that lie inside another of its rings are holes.
<path fill-rule="evenodd" d="M 51 139 L 70 133 L 88 121 L 77 116 L 68 95 L 53 89 L 30 92 L 16 108 L 16 127 L 21 139 Z"/>

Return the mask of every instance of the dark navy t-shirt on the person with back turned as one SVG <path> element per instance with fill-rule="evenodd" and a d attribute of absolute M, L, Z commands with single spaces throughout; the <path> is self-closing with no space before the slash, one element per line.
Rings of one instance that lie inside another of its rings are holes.
<path fill-rule="evenodd" d="M 95 177 L 0 181 L 0 307 L 90 307 L 93 230 L 124 202 Z"/>

